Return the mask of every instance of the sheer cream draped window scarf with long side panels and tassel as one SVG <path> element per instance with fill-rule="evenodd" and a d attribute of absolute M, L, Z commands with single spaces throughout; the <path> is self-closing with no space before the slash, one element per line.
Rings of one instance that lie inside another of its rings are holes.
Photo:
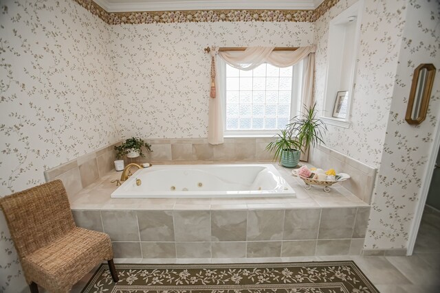
<path fill-rule="evenodd" d="M 274 47 L 248 47 L 244 51 L 219 51 L 219 47 L 210 49 L 211 55 L 211 93 L 209 102 L 208 142 L 223 143 L 223 100 L 225 99 L 224 66 L 228 65 L 241 70 L 252 70 L 263 63 L 276 67 L 289 67 L 305 60 L 301 101 L 312 103 L 314 52 L 315 46 L 299 47 L 295 51 L 274 51 Z"/>

